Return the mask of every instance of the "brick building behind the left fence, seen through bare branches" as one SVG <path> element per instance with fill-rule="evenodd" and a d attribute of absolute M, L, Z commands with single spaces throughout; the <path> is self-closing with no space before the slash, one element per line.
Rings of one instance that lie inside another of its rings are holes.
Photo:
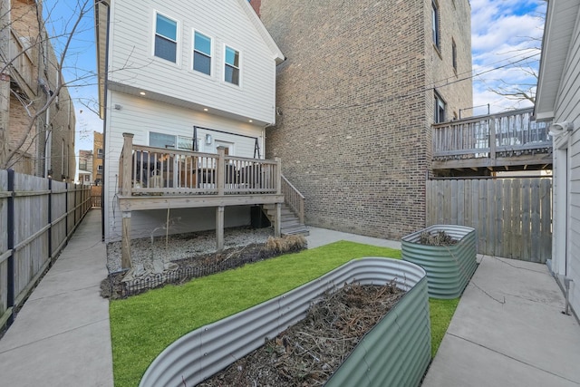
<path fill-rule="evenodd" d="M 0 45 L 2 93 L 9 102 L 0 104 L 0 115 L 7 131 L 7 154 L 14 156 L 7 166 L 18 172 L 73 181 L 75 175 L 73 102 L 59 71 L 50 37 L 39 25 L 42 2 L 11 0 L 3 2 L 2 28 L 9 44 Z M 9 9 L 5 6 L 9 5 Z M 49 100 L 48 108 L 38 115 Z M 5 121 L 5 117 L 8 118 Z M 31 126 L 32 125 L 32 126 Z M 31 128 L 31 131 L 28 129 Z M 1 154 L 2 152 L 0 152 Z M 4 164 L 0 160 L 0 164 Z"/>

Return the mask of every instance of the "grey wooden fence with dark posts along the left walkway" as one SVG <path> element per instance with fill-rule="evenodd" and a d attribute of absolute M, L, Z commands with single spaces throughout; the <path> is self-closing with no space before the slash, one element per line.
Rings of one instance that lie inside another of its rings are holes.
<path fill-rule="evenodd" d="M 87 186 L 0 170 L 0 328 L 91 209 Z"/>

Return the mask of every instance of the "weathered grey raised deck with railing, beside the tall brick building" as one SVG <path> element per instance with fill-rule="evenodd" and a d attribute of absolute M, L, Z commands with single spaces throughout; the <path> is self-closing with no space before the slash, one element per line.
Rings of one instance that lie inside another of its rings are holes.
<path fill-rule="evenodd" d="M 434 174 L 551 169 L 550 122 L 533 121 L 532 114 L 530 108 L 433 125 Z"/>

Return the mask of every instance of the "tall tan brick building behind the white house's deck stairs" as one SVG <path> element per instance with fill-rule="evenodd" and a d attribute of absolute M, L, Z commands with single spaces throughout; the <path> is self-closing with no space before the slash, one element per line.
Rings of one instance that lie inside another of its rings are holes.
<path fill-rule="evenodd" d="M 264 0 L 259 15 L 287 56 L 266 158 L 284 160 L 306 222 L 387 238 L 425 227 L 431 125 L 473 104 L 469 0 Z"/>

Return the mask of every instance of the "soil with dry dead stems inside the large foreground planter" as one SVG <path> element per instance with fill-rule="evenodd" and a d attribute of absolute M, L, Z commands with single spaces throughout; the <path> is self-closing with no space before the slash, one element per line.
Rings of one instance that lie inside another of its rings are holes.
<path fill-rule="evenodd" d="M 344 285 L 321 297 L 304 320 L 198 386 L 323 385 L 403 294 L 394 284 Z"/>

